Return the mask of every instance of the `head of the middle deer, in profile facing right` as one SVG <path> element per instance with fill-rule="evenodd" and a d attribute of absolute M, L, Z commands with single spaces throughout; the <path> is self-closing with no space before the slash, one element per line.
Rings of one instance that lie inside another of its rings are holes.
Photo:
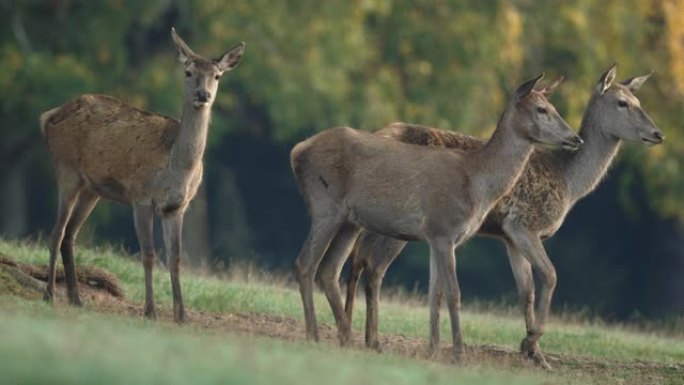
<path fill-rule="evenodd" d="M 535 91 L 535 86 L 543 77 L 542 73 L 516 89 L 513 99 L 514 119 L 517 120 L 515 127 L 523 136 L 535 142 L 562 145 L 576 150 L 582 144 L 582 139 L 546 99 L 563 79 L 559 78 L 547 87 Z"/>

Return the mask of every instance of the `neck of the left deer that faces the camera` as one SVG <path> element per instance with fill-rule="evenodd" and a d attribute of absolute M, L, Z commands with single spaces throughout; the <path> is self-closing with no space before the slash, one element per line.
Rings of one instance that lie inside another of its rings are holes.
<path fill-rule="evenodd" d="M 210 106 L 197 109 L 191 103 L 183 105 L 180 128 L 171 147 L 169 168 L 192 171 L 202 162 L 210 117 Z"/>

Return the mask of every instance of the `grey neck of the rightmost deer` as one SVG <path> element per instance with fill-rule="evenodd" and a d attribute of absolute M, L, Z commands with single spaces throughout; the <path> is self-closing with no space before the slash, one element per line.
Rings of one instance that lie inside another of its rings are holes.
<path fill-rule="evenodd" d="M 601 128 L 599 114 L 590 101 L 579 132 L 584 144 L 576 152 L 566 153 L 565 183 L 573 202 L 596 188 L 620 148 L 620 139 Z"/>

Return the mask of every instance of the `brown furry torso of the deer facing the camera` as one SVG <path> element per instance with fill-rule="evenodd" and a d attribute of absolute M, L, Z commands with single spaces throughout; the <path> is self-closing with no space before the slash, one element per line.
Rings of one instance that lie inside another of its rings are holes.
<path fill-rule="evenodd" d="M 55 165 L 78 170 L 102 195 L 123 201 L 168 164 L 179 128 L 172 118 L 105 95 L 83 95 L 48 114 L 43 132 Z"/>

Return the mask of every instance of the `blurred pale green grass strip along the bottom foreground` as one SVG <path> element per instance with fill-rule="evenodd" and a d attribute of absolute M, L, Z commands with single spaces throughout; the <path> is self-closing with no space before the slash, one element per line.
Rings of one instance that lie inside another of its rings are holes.
<path fill-rule="evenodd" d="M 220 336 L 0 296 L 6 384 L 533 384 L 539 376 Z"/>

